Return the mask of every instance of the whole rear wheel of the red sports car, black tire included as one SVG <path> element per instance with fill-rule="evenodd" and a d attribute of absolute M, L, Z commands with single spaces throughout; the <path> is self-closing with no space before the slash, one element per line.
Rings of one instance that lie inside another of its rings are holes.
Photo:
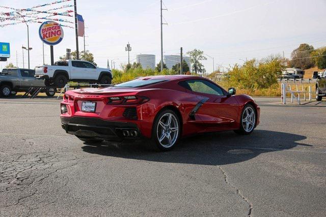
<path fill-rule="evenodd" d="M 172 115 L 170 125 L 166 125 L 170 115 Z M 164 123 L 166 128 L 164 129 L 159 122 Z M 178 129 L 176 130 L 176 128 Z M 181 124 L 178 115 L 170 109 L 161 110 L 154 119 L 150 144 L 154 146 L 156 150 L 168 151 L 176 146 L 180 139 L 180 135 Z M 161 138 L 163 139 L 160 141 Z"/>

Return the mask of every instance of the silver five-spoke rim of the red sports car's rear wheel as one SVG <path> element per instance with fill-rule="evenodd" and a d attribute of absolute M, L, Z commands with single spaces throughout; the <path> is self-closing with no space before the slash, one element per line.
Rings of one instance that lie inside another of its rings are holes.
<path fill-rule="evenodd" d="M 170 148 L 178 139 L 179 123 L 174 114 L 166 113 L 158 121 L 156 135 L 158 142 L 165 148 Z"/>

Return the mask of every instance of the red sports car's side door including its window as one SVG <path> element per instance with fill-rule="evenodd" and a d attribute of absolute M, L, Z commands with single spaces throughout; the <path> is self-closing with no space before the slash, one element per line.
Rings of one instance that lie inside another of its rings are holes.
<path fill-rule="evenodd" d="M 196 112 L 196 120 L 205 123 L 207 131 L 230 128 L 237 119 L 237 101 L 218 85 L 204 79 L 184 81 L 193 94 L 204 99 Z"/>

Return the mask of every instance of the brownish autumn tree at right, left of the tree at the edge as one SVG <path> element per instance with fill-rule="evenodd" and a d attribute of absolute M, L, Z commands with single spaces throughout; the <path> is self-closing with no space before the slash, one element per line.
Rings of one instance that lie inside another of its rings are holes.
<path fill-rule="evenodd" d="M 298 48 L 291 53 L 291 67 L 300 69 L 309 69 L 314 66 L 310 53 L 314 50 L 314 47 L 309 44 L 301 44 Z"/>

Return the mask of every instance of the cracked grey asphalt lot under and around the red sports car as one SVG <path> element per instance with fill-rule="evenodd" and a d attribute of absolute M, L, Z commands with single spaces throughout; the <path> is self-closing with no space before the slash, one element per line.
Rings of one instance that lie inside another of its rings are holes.
<path fill-rule="evenodd" d="M 59 100 L 0 99 L 0 215 L 326 215 L 326 101 L 258 98 L 252 135 L 88 146 Z"/>

